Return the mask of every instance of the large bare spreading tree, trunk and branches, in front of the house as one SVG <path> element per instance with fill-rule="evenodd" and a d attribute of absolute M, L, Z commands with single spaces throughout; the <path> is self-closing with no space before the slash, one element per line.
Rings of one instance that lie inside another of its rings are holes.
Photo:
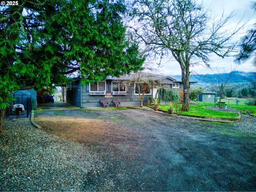
<path fill-rule="evenodd" d="M 134 41 L 143 42 L 156 58 L 174 58 L 180 65 L 183 82 L 183 105 L 189 110 L 190 67 L 198 63 L 210 67 L 210 54 L 221 58 L 234 50 L 230 39 L 239 30 L 225 30 L 230 18 L 214 21 L 210 12 L 193 0 L 135 0 L 130 22 Z M 157 56 L 158 55 L 158 56 Z"/>

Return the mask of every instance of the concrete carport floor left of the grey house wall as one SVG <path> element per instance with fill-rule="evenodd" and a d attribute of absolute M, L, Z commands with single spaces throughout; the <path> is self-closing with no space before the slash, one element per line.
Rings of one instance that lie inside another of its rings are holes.
<path fill-rule="evenodd" d="M 37 110 L 70 110 L 79 109 L 67 102 L 41 103 L 38 104 Z"/>

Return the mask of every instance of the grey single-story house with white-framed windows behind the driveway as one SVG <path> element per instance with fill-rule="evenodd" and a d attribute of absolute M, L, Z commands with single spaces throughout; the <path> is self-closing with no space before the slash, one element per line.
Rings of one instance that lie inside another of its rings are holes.
<path fill-rule="evenodd" d="M 138 86 L 132 83 L 132 75 L 121 77 L 107 77 L 105 81 L 99 81 L 94 84 L 82 85 L 79 78 L 73 83 L 67 85 L 67 102 L 77 107 L 100 107 L 101 99 L 112 102 L 118 99 L 121 106 L 138 106 L 140 105 Z M 155 75 L 155 78 L 161 80 L 165 87 L 177 89 L 178 93 L 183 95 L 182 81 L 174 79 L 170 76 Z M 196 82 L 191 82 L 196 83 Z M 146 103 L 148 97 L 155 98 L 157 89 L 148 89 L 148 85 L 143 85 L 145 90 L 143 103 Z"/>

